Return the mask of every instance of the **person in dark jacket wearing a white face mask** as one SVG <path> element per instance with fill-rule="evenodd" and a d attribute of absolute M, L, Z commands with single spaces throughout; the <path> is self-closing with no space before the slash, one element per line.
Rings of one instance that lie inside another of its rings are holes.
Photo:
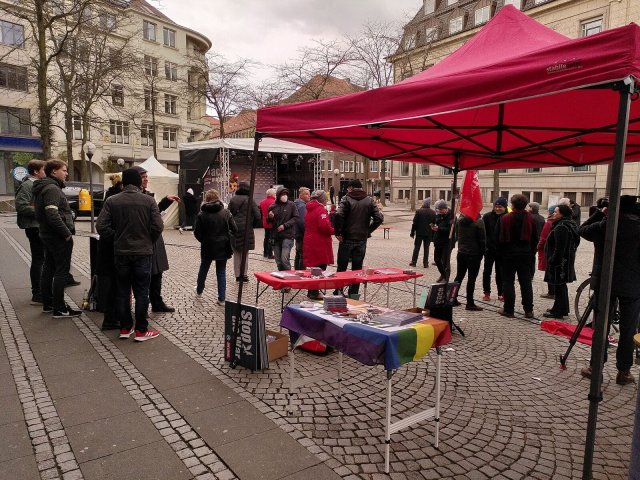
<path fill-rule="evenodd" d="M 298 223 L 298 209 L 289 200 L 289 190 L 278 187 L 276 201 L 269 207 L 267 222 L 273 230 L 273 254 L 278 270 L 291 270 L 291 249 Z"/>

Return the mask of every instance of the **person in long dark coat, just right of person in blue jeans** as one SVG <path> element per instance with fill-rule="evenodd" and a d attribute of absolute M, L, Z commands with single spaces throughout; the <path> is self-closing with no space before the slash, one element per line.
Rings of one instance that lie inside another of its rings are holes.
<path fill-rule="evenodd" d="M 251 224 L 247 225 L 247 209 L 249 208 L 251 209 Z M 229 202 L 229 211 L 231 212 L 231 215 L 233 215 L 233 220 L 238 227 L 231 242 L 233 246 L 233 272 L 236 275 L 236 282 L 239 282 L 241 280 L 243 282 L 248 282 L 248 265 L 244 266 L 244 272 L 240 271 L 244 246 L 244 235 L 245 231 L 247 231 L 248 229 L 249 243 L 247 245 L 247 250 L 255 250 L 256 236 L 253 233 L 253 228 L 255 226 L 262 225 L 260 207 L 258 207 L 258 204 L 255 201 L 249 198 L 249 182 L 240 182 L 240 184 L 238 185 L 238 190 L 236 190 L 236 194 Z"/>

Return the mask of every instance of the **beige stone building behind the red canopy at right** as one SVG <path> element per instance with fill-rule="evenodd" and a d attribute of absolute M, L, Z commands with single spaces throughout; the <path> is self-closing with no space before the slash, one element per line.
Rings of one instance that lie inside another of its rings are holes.
<path fill-rule="evenodd" d="M 640 22 L 638 0 L 424 0 L 404 27 L 400 48 L 389 59 L 396 81 L 426 70 L 457 50 L 507 4 L 570 38 Z M 410 164 L 393 162 L 392 177 L 393 200 L 412 203 Z M 498 193 L 493 191 L 493 171 L 479 172 L 487 206 L 497 196 L 524 193 L 543 206 L 569 197 L 588 207 L 604 195 L 606 177 L 606 165 L 501 170 Z M 416 180 L 418 203 L 426 197 L 451 199 L 452 174 L 448 169 L 418 165 Z M 640 194 L 637 163 L 625 165 L 623 193 Z"/>

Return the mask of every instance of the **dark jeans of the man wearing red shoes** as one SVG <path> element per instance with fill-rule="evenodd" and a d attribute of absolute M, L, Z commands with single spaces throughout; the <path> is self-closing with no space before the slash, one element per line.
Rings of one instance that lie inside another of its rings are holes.
<path fill-rule="evenodd" d="M 149 283 L 151 282 L 151 255 L 116 255 L 116 302 L 120 328 L 131 330 L 129 295 L 133 290 L 136 300 L 136 330 L 146 332 L 149 326 Z"/>

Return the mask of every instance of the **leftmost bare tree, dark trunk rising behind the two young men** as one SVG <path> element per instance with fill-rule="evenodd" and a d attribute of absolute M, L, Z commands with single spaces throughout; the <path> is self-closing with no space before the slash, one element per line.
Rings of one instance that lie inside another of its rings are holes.
<path fill-rule="evenodd" d="M 64 52 L 69 39 L 86 21 L 86 12 L 101 3 L 104 1 L 21 0 L 0 4 L 0 12 L 26 26 L 24 42 L 35 46 L 34 54 L 30 55 L 38 100 L 38 119 L 34 124 L 40 133 L 45 158 L 51 157 L 52 116 L 58 101 L 57 96 L 50 95 L 48 88 L 50 68 Z M 22 45 L 17 47 L 22 48 Z"/>

